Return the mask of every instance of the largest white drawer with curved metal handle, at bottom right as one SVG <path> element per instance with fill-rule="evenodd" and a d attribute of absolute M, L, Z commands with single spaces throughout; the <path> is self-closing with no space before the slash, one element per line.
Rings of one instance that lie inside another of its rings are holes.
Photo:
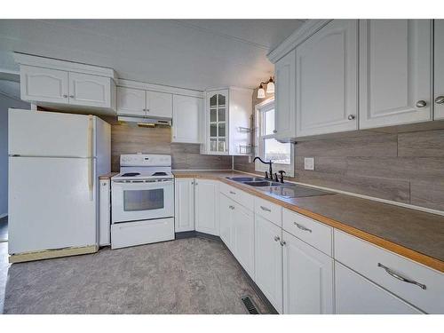
<path fill-rule="evenodd" d="M 425 313 L 444 313 L 444 274 L 338 230 L 335 258 Z"/>

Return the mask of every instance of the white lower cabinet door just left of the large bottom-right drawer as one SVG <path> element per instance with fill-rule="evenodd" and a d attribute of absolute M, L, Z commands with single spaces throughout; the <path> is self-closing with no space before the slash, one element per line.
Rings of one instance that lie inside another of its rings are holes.
<path fill-rule="evenodd" d="M 283 312 L 334 313 L 333 259 L 283 232 Z"/>

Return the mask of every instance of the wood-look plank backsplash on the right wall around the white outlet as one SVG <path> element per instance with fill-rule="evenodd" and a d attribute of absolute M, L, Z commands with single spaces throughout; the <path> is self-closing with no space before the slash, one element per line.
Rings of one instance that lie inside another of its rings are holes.
<path fill-rule="evenodd" d="M 444 210 L 444 130 L 360 134 L 298 142 L 292 179 Z M 315 170 L 304 170 L 304 157 Z M 235 156 L 234 169 L 254 172 L 254 164 Z"/>

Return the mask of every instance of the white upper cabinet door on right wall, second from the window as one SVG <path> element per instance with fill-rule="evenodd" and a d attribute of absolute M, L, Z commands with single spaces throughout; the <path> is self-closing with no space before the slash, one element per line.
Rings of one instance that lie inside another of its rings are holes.
<path fill-rule="evenodd" d="M 357 20 L 333 20 L 297 46 L 297 137 L 358 129 L 357 32 Z"/>

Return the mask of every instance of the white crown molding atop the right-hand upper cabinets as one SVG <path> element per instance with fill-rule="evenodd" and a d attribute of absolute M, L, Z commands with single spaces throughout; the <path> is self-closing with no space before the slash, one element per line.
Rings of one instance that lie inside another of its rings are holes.
<path fill-rule="evenodd" d="M 332 20 L 307 20 L 301 28 L 298 28 L 293 34 L 285 39 L 266 57 L 273 63 L 281 59 L 285 54 L 304 42 L 307 38 L 316 33 L 319 29 L 326 26 Z"/>

